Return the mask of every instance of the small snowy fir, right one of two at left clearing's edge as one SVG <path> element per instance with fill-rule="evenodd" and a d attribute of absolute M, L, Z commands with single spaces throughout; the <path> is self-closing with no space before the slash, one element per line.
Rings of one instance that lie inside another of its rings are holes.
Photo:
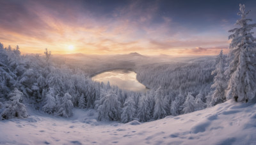
<path fill-rule="evenodd" d="M 62 101 L 61 101 L 60 109 L 58 111 L 59 116 L 63 116 L 66 118 L 72 116 L 73 104 L 72 104 L 71 99 L 72 99 L 72 96 L 69 93 L 65 93 L 65 95 L 63 96 Z"/>

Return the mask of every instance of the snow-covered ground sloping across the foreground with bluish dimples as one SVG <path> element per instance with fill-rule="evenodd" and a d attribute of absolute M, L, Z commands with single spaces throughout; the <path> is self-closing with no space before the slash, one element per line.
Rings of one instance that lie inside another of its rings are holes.
<path fill-rule="evenodd" d="M 193 113 L 126 124 L 97 121 L 93 110 L 72 118 L 31 111 L 0 121 L 0 144 L 256 144 L 256 104 L 227 101 Z"/>

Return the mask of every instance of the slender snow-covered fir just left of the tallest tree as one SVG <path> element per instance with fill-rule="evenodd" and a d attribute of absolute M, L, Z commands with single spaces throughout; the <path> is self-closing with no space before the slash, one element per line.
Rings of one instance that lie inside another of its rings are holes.
<path fill-rule="evenodd" d="M 212 84 L 211 88 L 215 88 L 214 93 L 212 95 L 212 103 L 213 105 L 219 104 L 224 102 L 225 97 L 225 90 L 227 88 L 227 80 L 224 76 L 225 69 L 225 58 L 223 56 L 223 52 L 221 50 L 220 55 L 216 59 L 216 68 L 212 71 L 212 75 L 214 76 L 214 83 Z"/>

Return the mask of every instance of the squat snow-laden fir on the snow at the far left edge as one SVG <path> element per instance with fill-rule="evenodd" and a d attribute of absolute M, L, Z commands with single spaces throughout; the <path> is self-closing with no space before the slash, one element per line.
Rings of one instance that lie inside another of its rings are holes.
<path fill-rule="evenodd" d="M 10 98 L 10 102 L 6 104 L 6 108 L 1 113 L 3 119 L 11 119 L 11 118 L 27 118 L 28 113 L 26 111 L 26 107 L 20 101 L 22 101 L 23 93 L 20 92 L 17 88 L 15 88 L 11 93 L 9 93 L 8 97 Z"/>

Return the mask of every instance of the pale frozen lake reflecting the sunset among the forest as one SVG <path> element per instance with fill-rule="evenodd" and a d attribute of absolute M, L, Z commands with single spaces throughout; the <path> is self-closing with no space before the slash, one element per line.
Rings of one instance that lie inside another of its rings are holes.
<path fill-rule="evenodd" d="M 92 77 L 93 81 L 103 81 L 105 84 L 110 83 L 111 86 L 118 86 L 122 90 L 131 90 L 134 92 L 145 92 L 148 90 L 136 79 L 136 73 L 127 70 L 113 70 L 102 72 Z"/>

